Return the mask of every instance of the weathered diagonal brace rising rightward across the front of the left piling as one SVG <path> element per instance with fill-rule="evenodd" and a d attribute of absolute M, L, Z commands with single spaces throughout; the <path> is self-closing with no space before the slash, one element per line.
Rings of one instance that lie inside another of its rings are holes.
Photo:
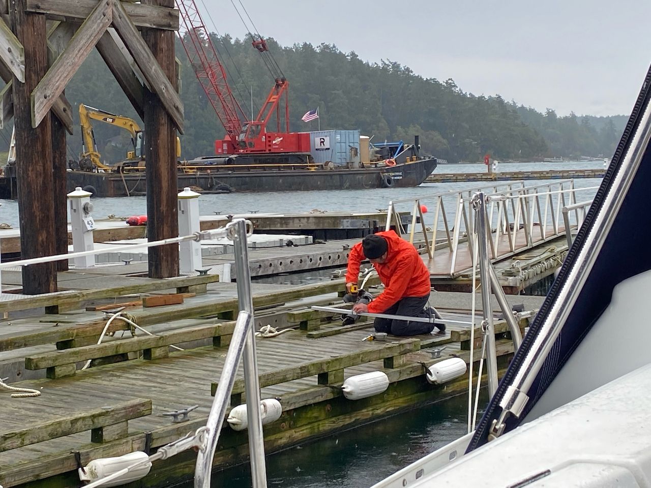
<path fill-rule="evenodd" d="M 49 109 L 111 25 L 112 19 L 111 1 L 102 0 L 77 29 L 66 50 L 57 57 L 57 61 L 49 68 L 31 94 L 32 127 L 36 128 L 48 115 Z"/>

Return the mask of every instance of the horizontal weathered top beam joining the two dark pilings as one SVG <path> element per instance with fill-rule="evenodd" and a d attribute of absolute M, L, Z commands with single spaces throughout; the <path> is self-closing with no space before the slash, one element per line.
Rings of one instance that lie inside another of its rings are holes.
<path fill-rule="evenodd" d="M 3 8 L 7 4 L 2 2 Z M 84 20 L 97 6 L 97 0 L 27 0 L 27 10 L 45 14 L 47 18 L 79 21 Z M 143 5 L 141 3 L 126 3 L 124 11 L 138 27 L 178 31 L 179 15 L 176 8 Z M 1 13 L 1 12 L 0 12 Z"/>

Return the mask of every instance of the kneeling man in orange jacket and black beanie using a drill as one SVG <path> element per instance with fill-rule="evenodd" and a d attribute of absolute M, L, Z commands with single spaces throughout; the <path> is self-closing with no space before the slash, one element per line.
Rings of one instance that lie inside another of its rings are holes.
<path fill-rule="evenodd" d="M 385 288 L 368 305 L 353 305 L 353 312 L 434 318 L 434 309 L 427 304 L 432 290 L 430 271 L 412 244 L 391 230 L 364 237 L 361 243 L 352 247 L 348 256 L 348 293 L 351 286 L 357 284 L 359 265 L 364 258 L 373 264 Z M 428 334 L 435 327 L 434 323 L 379 317 L 373 325 L 377 332 L 389 332 L 396 336 Z M 436 324 L 436 327 L 445 332 L 444 324 Z"/>

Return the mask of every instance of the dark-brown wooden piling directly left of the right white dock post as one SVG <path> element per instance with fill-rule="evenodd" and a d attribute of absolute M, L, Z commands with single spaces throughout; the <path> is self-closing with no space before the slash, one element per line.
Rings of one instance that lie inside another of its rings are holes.
<path fill-rule="evenodd" d="M 174 7 L 174 0 L 146 0 L 143 4 Z M 143 29 L 143 38 L 167 78 L 176 85 L 174 31 Z M 176 131 L 158 95 L 145 87 L 145 161 L 147 179 L 147 235 L 150 241 L 178 236 Z M 152 247 L 149 276 L 178 276 L 178 245 Z"/>

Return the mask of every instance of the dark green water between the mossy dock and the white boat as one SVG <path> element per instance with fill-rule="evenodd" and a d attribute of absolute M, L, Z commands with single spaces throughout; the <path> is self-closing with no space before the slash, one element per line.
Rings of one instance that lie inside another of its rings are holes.
<path fill-rule="evenodd" d="M 464 435 L 466 410 L 467 396 L 458 396 L 268 455 L 268 485 L 368 488 Z M 251 487 L 249 465 L 215 473 L 212 485 Z"/>

